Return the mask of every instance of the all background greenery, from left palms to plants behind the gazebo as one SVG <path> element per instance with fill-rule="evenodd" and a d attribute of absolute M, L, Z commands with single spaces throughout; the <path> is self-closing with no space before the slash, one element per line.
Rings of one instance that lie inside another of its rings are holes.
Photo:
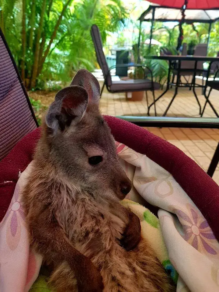
<path fill-rule="evenodd" d="M 57 90 L 67 85 L 78 69 L 92 71 L 97 65 L 90 35 L 94 23 L 99 26 L 103 44 L 108 33 L 119 32 L 116 44 L 123 47 L 126 39 L 121 28 L 129 18 L 123 3 L 122 0 L 0 0 L 0 26 L 26 87 Z M 45 13 L 42 13 L 43 5 Z M 135 33 L 139 23 L 132 24 Z M 188 45 L 207 42 L 209 24 L 183 24 L 182 28 L 183 42 Z M 154 24 L 153 38 L 172 54 L 176 54 L 178 35 L 178 25 L 170 28 L 164 23 Z M 164 83 L 168 64 L 163 60 L 147 60 L 148 54 L 160 54 L 159 46 L 153 45 L 149 51 L 149 46 L 144 44 L 149 37 L 142 27 L 141 62 L 146 62 L 153 70 L 156 81 Z M 138 35 L 135 34 L 136 63 L 139 61 L 137 43 Z M 219 23 L 216 22 L 212 25 L 208 54 L 215 56 L 218 50 Z"/>

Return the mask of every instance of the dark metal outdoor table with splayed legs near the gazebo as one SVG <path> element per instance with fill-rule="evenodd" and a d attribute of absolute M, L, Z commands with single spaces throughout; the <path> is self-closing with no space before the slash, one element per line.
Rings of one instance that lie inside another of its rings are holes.
<path fill-rule="evenodd" d="M 193 87 L 193 93 L 194 93 L 194 96 L 196 98 L 196 101 L 199 105 L 199 113 L 201 114 L 201 105 L 200 105 L 200 102 L 198 100 L 198 97 L 197 97 L 197 94 L 196 94 L 196 91 L 195 91 L 195 88 L 196 87 L 202 87 L 204 88 L 203 90 L 203 95 L 204 97 L 206 98 L 207 100 L 207 103 L 210 105 L 210 107 L 213 109 L 215 115 L 217 117 L 219 117 L 216 109 L 214 108 L 214 106 L 212 105 L 212 103 L 209 101 L 209 99 L 207 98 L 207 95 L 206 95 L 206 89 L 207 89 L 207 85 L 197 85 L 195 83 L 195 76 L 196 76 L 196 72 L 203 72 L 205 71 L 204 69 L 200 70 L 200 69 L 197 69 L 197 62 L 198 61 L 203 61 L 203 62 L 209 62 L 209 67 L 208 67 L 208 70 L 207 70 L 207 79 L 209 77 L 209 74 L 210 74 L 210 68 L 211 68 L 211 64 L 213 62 L 218 62 L 219 61 L 219 57 L 208 57 L 208 56 L 178 56 L 178 55 L 164 55 L 164 56 L 147 56 L 146 59 L 157 59 L 157 60 L 166 60 L 166 61 L 169 61 L 169 70 L 168 70 L 168 77 L 167 77 L 167 86 L 166 86 L 166 90 L 160 95 L 158 96 L 158 98 L 155 99 L 155 102 L 151 103 L 149 106 L 148 106 L 148 115 L 149 115 L 149 111 L 150 111 L 150 108 L 151 106 L 156 103 L 156 101 L 158 101 L 158 99 L 160 99 L 169 89 L 170 89 L 170 85 L 172 86 L 175 86 L 175 92 L 174 92 L 174 95 L 169 103 L 169 105 L 167 106 L 165 112 L 163 113 L 163 116 L 165 116 L 172 104 L 172 102 L 174 101 L 175 97 L 177 96 L 177 93 L 178 93 L 178 87 L 180 85 L 180 72 L 182 71 L 188 71 L 188 72 L 191 72 L 193 71 L 193 82 L 192 82 L 192 87 Z M 181 69 L 181 61 L 194 61 L 195 64 L 194 64 L 194 69 L 186 69 L 186 68 L 182 68 Z M 173 69 L 172 68 L 172 64 L 178 64 L 178 68 L 177 68 L 177 81 L 176 83 L 171 83 L 170 82 L 170 78 L 171 78 L 171 70 Z M 180 70 L 181 69 L 181 70 Z"/>

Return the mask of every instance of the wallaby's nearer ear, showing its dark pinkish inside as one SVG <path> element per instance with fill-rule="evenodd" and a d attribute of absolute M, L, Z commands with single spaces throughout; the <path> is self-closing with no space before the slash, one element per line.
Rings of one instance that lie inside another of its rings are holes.
<path fill-rule="evenodd" d="M 50 105 L 46 124 L 57 132 L 64 130 L 72 121 L 79 122 L 85 114 L 88 104 L 88 93 L 81 86 L 69 86 L 61 89 Z"/>

